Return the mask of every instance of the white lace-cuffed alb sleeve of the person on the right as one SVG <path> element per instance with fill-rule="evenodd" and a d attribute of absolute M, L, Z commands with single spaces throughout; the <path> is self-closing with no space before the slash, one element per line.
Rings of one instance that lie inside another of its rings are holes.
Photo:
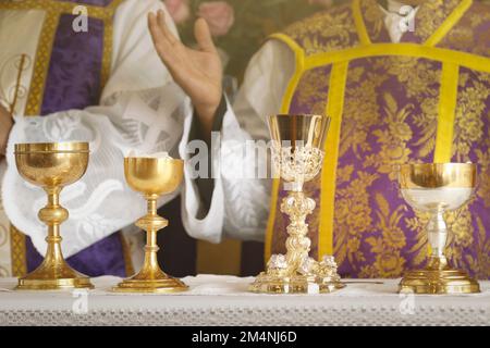
<path fill-rule="evenodd" d="M 390 11 L 401 7 L 394 1 L 389 1 L 389 4 Z M 400 26 L 387 28 L 390 36 L 400 41 Z M 210 211 L 200 220 L 196 217 L 200 212 L 197 189 L 191 178 L 185 179 L 182 211 L 185 214 L 184 225 L 192 236 L 211 241 L 219 241 L 223 235 L 245 240 L 264 239 L 271 181 L 244 179 L 245 170 L 264 167 L 266 164 L 258 163 L 255 158 L 244 157 L 243 150 L 245 141 L 249 139 L 269 139 L 266 119 L 280 112 L 283 95 L 294 71 L 294 53 L 283 42 L 269 40 L 253 57 L 234 105 L 229 105 L 223 120 L 223 144 L 226 140 L 233 144 L 224 149 L 213 149 L 212 152 L 212 165 L 221 169 L 223 177 L 215 181 Z M 187 114 L 186 129 L 191 126 L 191 116 L 192 110 Z M 184 130 L 181 144 L 181 157 L 188 160 L 191 157 L 185 153 L 185 134 L 187 130 Z M 191 170 L 189 163 L 187 170 Z"/>

